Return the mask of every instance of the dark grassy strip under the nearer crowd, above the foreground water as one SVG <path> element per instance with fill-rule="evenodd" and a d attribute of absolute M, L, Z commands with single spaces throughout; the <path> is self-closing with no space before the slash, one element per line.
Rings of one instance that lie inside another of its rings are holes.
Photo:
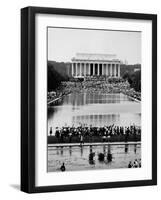
<path fill-rule="evenodd" d="M 125 136 L 124 135 L 114 135 L 108 139 L 106 139 L 105 142 L 125 142 Z M 141 141 L 141 136 L 140 135 L 129 135 L 129 137 L 126 140 L 127 142 L 133 142 L 133 141 Z M 90 142 L 103 142 L 103 138 L 100 136 L 86 136 L 84 137 L 84 142 L 85 143 L 90 143 Z M 48 144 L 58 144 L 58 143 L 80 143 L 80 138 L 78 136 L 73 136 L 71 141 L 68 138 L 63 138 L 61 140 L 60 138 L 58 139 L 55 136 L 48 136 Z"/>

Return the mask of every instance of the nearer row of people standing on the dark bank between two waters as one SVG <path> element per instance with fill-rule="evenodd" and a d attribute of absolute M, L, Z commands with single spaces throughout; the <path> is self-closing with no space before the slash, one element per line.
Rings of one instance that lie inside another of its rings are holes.
<path fill-rule="evenodd" d="M 50 136 L 55 136 L 60 142 L 68 139 L 68 142 L 72 142 L 73 137 L 78 137 L 80 143 L 84 143 L 86 136 L 89 137 L 99 137 L 102 142 L 106 142 L 109 138 L 113 136 L 124 136 L 124 141 L 128 141 L 130 136 L 137 138 L 137 135 L 141 135 L 141 128 L 135 125 L 131 126 L 103 126 L 103 127 L 93 127 L 93 126 L 64 126 L 61 128 L 56 127 L 55 133 L 53 134 L 52 127 L 49 131 Z"/>

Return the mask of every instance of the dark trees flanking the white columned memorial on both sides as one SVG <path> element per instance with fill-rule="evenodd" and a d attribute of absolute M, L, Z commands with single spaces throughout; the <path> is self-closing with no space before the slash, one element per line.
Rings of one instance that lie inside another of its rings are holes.
<path fill-rule="evenodd" d="M 68 81 L 72 78 L 72 63 L 48 61 L 48 91 L 55 90 L 62 81 Z M 141 91 L 141 65 L 120 66 L 120 76 L 128 81 L 130 86 L 136 91 Z"/>

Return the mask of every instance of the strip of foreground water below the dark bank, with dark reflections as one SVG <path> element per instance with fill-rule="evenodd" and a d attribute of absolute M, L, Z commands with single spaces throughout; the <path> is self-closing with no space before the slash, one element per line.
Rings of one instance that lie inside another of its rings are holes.
<path fill-rule="evenodd" d="M 130 161 L 141 158 L 141 145 L 48 147 L 48 171 L 127 168 Z M 70 159 L 69 158 L 70 155 Z"/>

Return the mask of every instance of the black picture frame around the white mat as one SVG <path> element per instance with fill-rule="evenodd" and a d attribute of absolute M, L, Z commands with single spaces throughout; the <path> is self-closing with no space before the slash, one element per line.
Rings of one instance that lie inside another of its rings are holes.
<path fill-rule="evenodd" d="M 35 16 L 59 14 L 152 21 L 152 179 L 60 186 L 35 186 Z M 157 184 L 157 15 L 45 7 L 21 9 L 21 190 L 27 193 Z"/>

